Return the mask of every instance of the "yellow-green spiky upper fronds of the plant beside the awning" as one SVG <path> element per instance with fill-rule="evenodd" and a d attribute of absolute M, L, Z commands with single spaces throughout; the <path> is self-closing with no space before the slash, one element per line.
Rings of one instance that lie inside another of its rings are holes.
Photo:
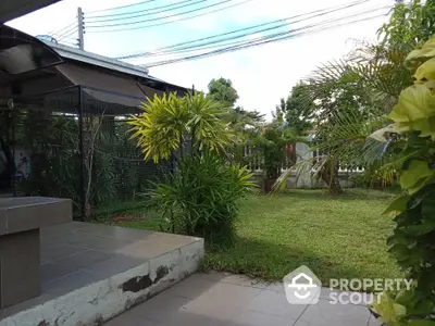
<path fill-rule="evenodd" d="M 184 98 L 175 93 L 147 99 L 141 104 L 144 113 L 132 116 L 132 138 L 137 140 L 146 159 L 156 163 L 169 160 L 183 150 L 186 140 L 195 148 L 224 151 L 231 142 L 227 124 L 222 120 L 228 109 L 210 97 L 197 92 Z"/>

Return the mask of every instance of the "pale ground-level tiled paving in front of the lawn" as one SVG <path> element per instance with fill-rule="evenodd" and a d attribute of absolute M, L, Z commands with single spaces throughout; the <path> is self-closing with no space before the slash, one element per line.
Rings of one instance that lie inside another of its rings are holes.
<path fill-rule="evenodd" d="M 238 275 L 195 274 L 105 326 L 378 326 L 363 305 L 291 305 L 282 284 Z"/>

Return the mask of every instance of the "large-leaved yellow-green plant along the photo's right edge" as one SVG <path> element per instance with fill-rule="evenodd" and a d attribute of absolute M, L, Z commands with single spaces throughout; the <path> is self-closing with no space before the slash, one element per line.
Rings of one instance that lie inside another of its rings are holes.
<path fill-rule="evenodd" d="M 388 117 L 373 137 L 395 154 L 402 193 L 386 209 L 396 227 L 389 252 L 413 280 L 410 289 L 386 291 L 373 304 L 390 326 L 435 325 L 435 37 L 408 58 L 418 66 Z"/>

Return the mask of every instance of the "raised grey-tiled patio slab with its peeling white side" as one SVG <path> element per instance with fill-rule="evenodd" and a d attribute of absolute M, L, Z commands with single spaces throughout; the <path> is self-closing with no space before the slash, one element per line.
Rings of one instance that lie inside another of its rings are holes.
<path fill-rule="evenodd" d="M 194 273 L 203 240 L 72 222 L 41 228 L 41 256 L 42 296 L 0 326 L 100 325 Z"/>

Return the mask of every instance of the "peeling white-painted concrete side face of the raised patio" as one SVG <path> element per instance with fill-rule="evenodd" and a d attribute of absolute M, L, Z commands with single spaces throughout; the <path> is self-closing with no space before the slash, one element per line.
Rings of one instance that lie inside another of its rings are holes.
<path fill-rule="evenodd" d="M 192 274 L 203 254 L 203 240 L 198 239 L 124 273 L 17 312 L 1 319 L 0 326 L 102 325 Z"/>

